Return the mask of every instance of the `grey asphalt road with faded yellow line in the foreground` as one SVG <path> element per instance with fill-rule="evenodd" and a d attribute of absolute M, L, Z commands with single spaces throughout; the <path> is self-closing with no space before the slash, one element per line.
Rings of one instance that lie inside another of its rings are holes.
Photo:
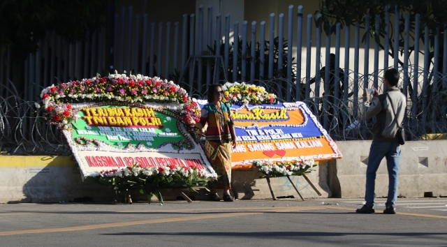
<path fill-rule="evenodd" d="M 0 246 L 447 246 L 447 198 L 0 204 Z"/>

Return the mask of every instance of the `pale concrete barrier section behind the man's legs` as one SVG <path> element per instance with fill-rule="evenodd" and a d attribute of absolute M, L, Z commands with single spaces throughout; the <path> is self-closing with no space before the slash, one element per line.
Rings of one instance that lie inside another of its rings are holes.
<path fill-rule="evenodd" d="M 343 158 L 328 163 L 332 194 L 351 198 L 365 196 L 366 168 L 371 141 L 337 142 Z M 399 195 L 423 197 L 447 195 L 447 140 L 406 142 L 402 146 Z M 335 176 L 336 175 L 336 176 Z M 377 171 L 376 197 L 388 194 L 388 171 L 383 159 Z"/>

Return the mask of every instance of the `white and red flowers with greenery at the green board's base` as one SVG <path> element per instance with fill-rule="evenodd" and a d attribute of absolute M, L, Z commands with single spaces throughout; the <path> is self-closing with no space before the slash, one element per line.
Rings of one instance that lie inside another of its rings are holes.
<path fill-rule="evenodd" d="M 152 195 L 163 204 L 161 188 L 187 188 L 205 186 L 208 181 L 216 179 L 217 174 L 207 172 L 198 167 L 181 167 L 179 165 L 158 165 L 143 167 L 142 165 L 130 165 L 125 168 L 101 171 L 94 177 L 103 185 L 110 186 L 116 191 L 136 188 L 140 193 L 147 195 L 147 202 L 151 202 Z"/>

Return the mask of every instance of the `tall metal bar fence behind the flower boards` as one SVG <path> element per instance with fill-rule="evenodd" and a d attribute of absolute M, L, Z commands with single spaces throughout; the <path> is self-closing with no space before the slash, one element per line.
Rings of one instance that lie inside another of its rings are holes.
<path fill-rule="evenodd" d="M 362 119 L 359 96 L 367 87 L 383 91 L 383 70 L 392 66 L 401 71 L 400 88 L 408 99 L 404 126 L 409 130 L 409 139 L 446 132 L 447 49 L 441 50 L 442 44 L 447 47 L 446 27 L 439 27 L 430 47 L 430 33 L 427 28 L 421 29 L 416 15 L 415 26 L 411 27 L 413 38 L 418 41 L 414 49 L 431 53 L 434 59 L 430 61 L 428 55 L 404 49 L 399 61 L 399 57 L 381 57 L 377 40 L 372 41 L 374 47 L 371 47 L 370 37 L 365 35 L 368 25 L 366 30 L 360 29 L 360 24 L 342 30 L 337 24 L 335 34 L 326 36 L 321 27 L 314 27 L 313 20 L 313 15 L 303 15 L 302 6 L 289 6 L 286 15 L 272 13 L 268 22 L 231 23 L 230 15 L 214 17 L 212 6 L 200 6 L 197 14 L 183 15 L 182 22 L 157 24 L 150 22 L 147 14 L 133 15 L 132 7 L 122 8 L 115 16 L 112 66 L 119 72 L 126 70 L 173 80 L 196 98 L 203 98 L 207 85 L 215 82 L 260 84 L 276 93 L 281 101 L 305 101 L 335 140 L 372 137 L 374 120 Z M 409 15 L 405 23 L 400 23 L 399 18 L 390 20 L 387 12 L 386 20 L 386 31 L 395 38 L 390 44 L 387 34 L 384 50 L 393 47 L 394 54 L 398 54 L 400 35 L 404 36 L 404 47 L 408 48 L 411 42 Z M 366 21 L 369 22 L 369 16 Z M 374 25 L 371 27 L 378 28 L 379 22 Z M 240 35 L 230 37 L 230 27 Z M 331 41 L 335 46 L 332 47 Z M 342 46 L 344 63 L 340 61 Z M 9 80 L 11 54 L 8 50 L 0 52 L 0 151 L 8 154 L 68 154 L 61 133 L 37 117 L 40 113 L 34 108 L 34 101 L 51 84 L 94 77 L 96 73 L 105 75 L 110 70 L 111 65 L 105 64 L 105 33 L 101 30 L 89 33 L 84 42 L 78 43 L 66 43 L 56 33 L 48 32 L 39 47 L 25 61 L 25 90 L 20 92 L 15 91 Z M 302 49 L 294 52 L 293 47 Z M 348 47 L 353 48 L 353 54 Z M 321 73 L 323 64 L 331 66 L 331 50 L 335 51 L 334 69 Z M 409 64 L 410 58 L 415 66 Z M 423 61 L 422 68 L 418 67 L 419 61 Z M 379 64 L 383 64 L 382 68 Z M 331 91 L 331 86 L 323 81 L 332 77 L 335 77 L 334 91 L 323 95 Z"/>

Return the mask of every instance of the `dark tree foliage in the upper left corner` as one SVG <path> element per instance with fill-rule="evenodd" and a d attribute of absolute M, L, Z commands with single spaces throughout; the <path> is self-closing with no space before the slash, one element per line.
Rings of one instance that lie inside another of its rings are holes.
<path fill-rule="evenodd" d="M 65 40 L 82 40 L 105 22 L 106 6 L 105 0 L 2 0 L 0 46 L 34 53 L 52 30 Z"/>

